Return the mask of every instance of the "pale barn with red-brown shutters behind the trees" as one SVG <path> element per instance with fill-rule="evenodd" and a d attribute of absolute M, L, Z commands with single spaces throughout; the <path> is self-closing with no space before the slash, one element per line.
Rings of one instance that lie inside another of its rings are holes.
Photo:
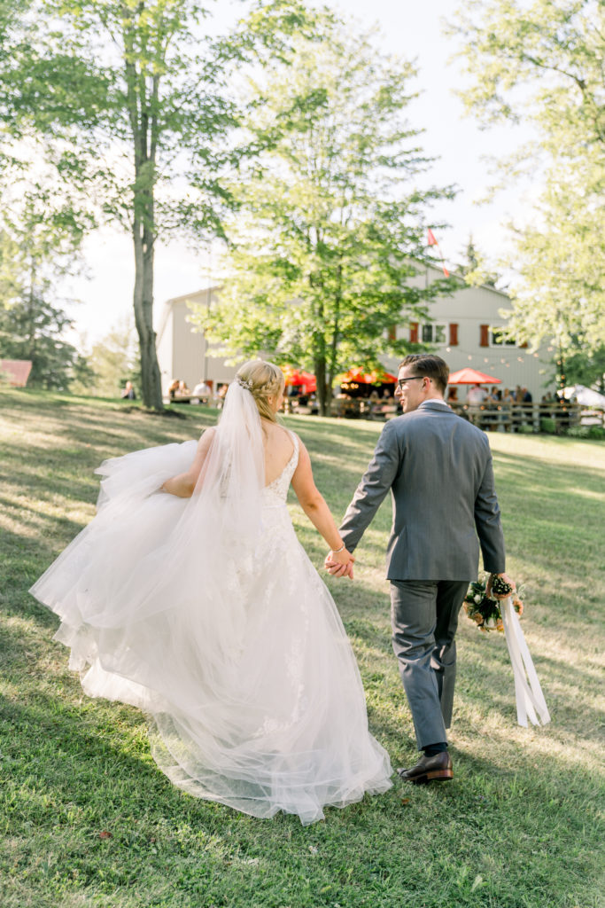
<path fill-rule="evenodd" d="M 426 272 L 415 277 L 416 284 L 441 277 L 442 272 L 429 265 Z M 397 338 L 421 341 L 433 345 L 434 351 L 446 360 L 451 371 L 471 366 L 502 380 L 501 388 L 514 390 L 517 385 L 532 392 L 539 401 L 547 390 L 543 374 L 548 353 L 503 343 L 498 329 L 506 325 L 501 311 L 511 310 L 511 301 L 503 291 L 483 285 L 469 287 L 459 279 L 459 289 L 452 296 L 435 300 L 430 306 L 432 321 L 422 324 L 405 321 L 393 331 Z M 222 382 L 233 380 L 237 367 L 212 355 L 212 345 L 203 333 L 194 331 L 187 317 L 190 304 L 210 305 L 219 299 L 220 288 L 211 287 L 175 297 L 164 303 L 158 328 L 158 360 L 162 390 L 167 393 L 173 379 L 182 379 L 192 389 L 200 380 L 207 381 L 213 390 Z M 398 359 L 384 358 L 385 369 L 396 372 Z M 351 363 L 356 365 L 356 363 Z M 464 400 L 464 389 L 458 400 Z"/>

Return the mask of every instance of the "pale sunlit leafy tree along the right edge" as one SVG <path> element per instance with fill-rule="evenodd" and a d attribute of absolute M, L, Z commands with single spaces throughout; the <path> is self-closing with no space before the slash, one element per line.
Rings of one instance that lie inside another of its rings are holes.
<path fill-rule="evenodd" d="M 451 31 L 464 43 L 469 111 L 536 135 L 503 163 L 506 181 L 535 173 L 544 186 L 507 262 L 519 275 L 512 332 L 590 359 L 605 339 L 605 5 L 470 0 Z"/>

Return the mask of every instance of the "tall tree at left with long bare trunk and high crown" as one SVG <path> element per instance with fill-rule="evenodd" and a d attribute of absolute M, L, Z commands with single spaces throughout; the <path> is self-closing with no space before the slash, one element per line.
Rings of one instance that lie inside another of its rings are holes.
<path fill-rule="evenodd" d="M 63 180 L 132 236 L 142 398 L 156 410 L 156 243 L 220 235 L 220 175 L 241 153 L 229 74 L 305 20 L 296 0 L 259 2 L 246 28 L 212 40 L 207 15 L 201 0 L 32 0 L 6 30 L 0 74 L 7 128 L 44 134 Z"/>

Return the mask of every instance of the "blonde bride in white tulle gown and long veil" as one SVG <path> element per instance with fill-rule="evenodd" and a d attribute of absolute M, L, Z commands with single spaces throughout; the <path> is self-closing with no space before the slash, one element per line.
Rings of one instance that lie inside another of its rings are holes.
<path fill-rule="evenodd" d="M 243 365 L 200 442 L 106 460 L 97 515 L 34 584 L 89 696 L 151 717 L 161 770 L 259 817 L 321 819 L 390 787 L 355 657 L 288 515 L 348 564 L 307 449 L 278 424 L 281 370 Z"/>

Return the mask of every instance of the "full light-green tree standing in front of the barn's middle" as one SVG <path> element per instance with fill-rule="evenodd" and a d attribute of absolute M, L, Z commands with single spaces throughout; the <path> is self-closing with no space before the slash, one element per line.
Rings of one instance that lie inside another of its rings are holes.
<path fill-rule="evenodd" d="M 263 153 L 232 187 L 220 304 L 193 321 L 223 353 L 313 370 L 325 414 L 339 371 L 404 353 L 394 326 L 450 290 L 411 280 L 430 203 L 450 193 L 418 188 L 429 161 L 405 119 L 414 67 L 329 15 L 320 31 L 250 85 L 245 126 Z"/>

